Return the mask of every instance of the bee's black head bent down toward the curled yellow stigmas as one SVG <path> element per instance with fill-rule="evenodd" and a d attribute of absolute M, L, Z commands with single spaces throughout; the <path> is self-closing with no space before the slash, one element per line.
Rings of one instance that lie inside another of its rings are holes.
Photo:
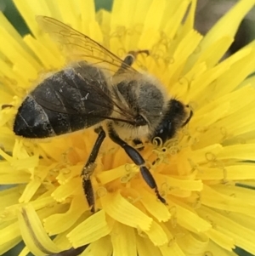
<path fill-rule="evenodd" d="M 159 125 L 156 127 L 154 134 L 151 136 L 151 141 L 160 138 L 164 144 L 168 139 L 172 139 L 178 131 L 178 128 L 184 127 L 193 115 L 190 111 L 190 116 L 186 111 L 188 105 L 184 105 L 178 100 L 169 100 L 167 111 Z"/>

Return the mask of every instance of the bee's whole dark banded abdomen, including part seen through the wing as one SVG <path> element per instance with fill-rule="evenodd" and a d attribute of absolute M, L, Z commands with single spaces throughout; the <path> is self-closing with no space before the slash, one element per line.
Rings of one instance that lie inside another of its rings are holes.
<path fill-rule="evenodd" d="M 91 127 L 111 116 L 110 97 L 102 71 L 79 63 L 46 78 L 26 96 L 14 133 L 47 138 Z"/>

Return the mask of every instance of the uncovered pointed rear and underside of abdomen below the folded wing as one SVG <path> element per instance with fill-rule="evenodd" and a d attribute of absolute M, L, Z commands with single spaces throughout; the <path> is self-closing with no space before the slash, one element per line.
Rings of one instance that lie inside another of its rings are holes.
<path fill-rule="evenodd" d="M 16 135 L 42 139 L 68 134 L 94 124 L 90 124 L 86 117 L 61 113 L 59 109 L 54 110 L 48 107 L 49 102 L 48 105 L 41 105 L 33 94 L 34 92 L 29 94 L 20 105 L 14 121 L 14 133 Z"/>

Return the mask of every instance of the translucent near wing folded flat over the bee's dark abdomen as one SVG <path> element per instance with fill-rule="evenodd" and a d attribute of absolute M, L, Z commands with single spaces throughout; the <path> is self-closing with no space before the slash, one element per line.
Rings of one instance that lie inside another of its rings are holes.
<path fill-rule="evenodd" d="M 133 111 L 117 98 L 118 94 L 112 94 L 103 76 L 97 66 L 80 61 L 75 67 L 67 67 L 43 80 L 31 95 L 50 112 L 81 117 L 88 122 L 101 118 L 135 123 Z"/>

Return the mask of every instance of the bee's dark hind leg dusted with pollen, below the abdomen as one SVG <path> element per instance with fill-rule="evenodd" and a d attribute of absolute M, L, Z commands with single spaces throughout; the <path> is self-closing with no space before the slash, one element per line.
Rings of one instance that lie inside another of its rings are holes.
<path fill-rule="evenodd" d="M 93 186 L 91 183 L 90 176 L 91 174 L 94 173 L 94 169 L 96 167 L 95 160 L 99 154 L 99 149 L 100 146 L 102 145 L 104 139 L 105 139 L 105 131 L 103 130 L 102 127 L 96 128 L 95 133 L 99 134 L 99 137 L 95 141 L 94 147 L 88 156 L 88 161 L 85 164 L 85 166 L 82 169 L 82 187 L 83 191 L 85 193 L 88 206 L 91 208 L 91 212 L 94 213 L 94 191 L 93 191 Z"/>

